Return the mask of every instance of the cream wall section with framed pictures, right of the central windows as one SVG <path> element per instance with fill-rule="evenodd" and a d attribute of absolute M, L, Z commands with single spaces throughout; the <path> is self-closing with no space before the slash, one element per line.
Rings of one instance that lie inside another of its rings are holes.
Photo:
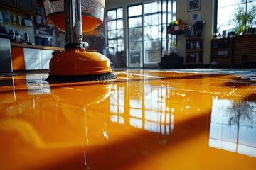
<path fill-rule="evenodd" d="M 188 12 L 188 0 L 177 1 L 177 18 L 189 23 L 189 18 L 193 13 L 201 13 L 201 20 L 206 22 L 203 42 L 203 64 L 210 64 L 210 40 L 213 37 L 213 3 L 214 0 L 201 0 L 201 9 L 199 11 Z M 181 56 L 185 56 L 186 38 L 183 35 L 178 36 L 178 48 Z"/>

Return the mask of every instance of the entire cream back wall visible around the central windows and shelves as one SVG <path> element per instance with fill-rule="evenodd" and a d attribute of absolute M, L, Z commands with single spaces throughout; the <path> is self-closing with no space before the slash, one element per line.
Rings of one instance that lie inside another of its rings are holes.
<path fill-rule="evenodd" d="M 136 0 L 106 0 L 105 8 L 117 8 L 122 6 L 124 8 L 124 18 L 127 18 L 127 5 L 139 4 L 142 1 Z M 177 18 L 181 18 L 184 22 L 189 23 L 189 17 L 193 13 L 201 13 L 201 20 L 206 22 L 205 35 L 203 43 L 203 64 L 210 64 L 210 40 L 213 36 L 213 3 L 214 0 L 201 0 L 201 10 L 188 12 L 188 0 L 177 0 Z M 124 33 L 126 31 L 126 23 L 124 23 Z M 186 52 L 186 38 L 183 35 L 178 36 L 179 55 L 185 56 Z"/>

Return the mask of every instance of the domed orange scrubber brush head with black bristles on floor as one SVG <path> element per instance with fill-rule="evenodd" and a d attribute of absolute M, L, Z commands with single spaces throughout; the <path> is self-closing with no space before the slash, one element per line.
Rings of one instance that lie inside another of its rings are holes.
<path fill-rule="evenodd" d="M 107 57 L 80 48 L 54 54 L 50 60 L 50 72 L 46 81 L 105 81 L 116 78 Z"/>

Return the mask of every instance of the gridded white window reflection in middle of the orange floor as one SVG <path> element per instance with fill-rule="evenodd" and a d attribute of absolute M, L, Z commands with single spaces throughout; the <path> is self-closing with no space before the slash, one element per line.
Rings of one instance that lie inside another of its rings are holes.
<path fill-rule="evenodd" d="M 114 85 L 110 95 L 110 120 L 114 123 L 129 123 L 134 128 L 169 135 L 174 130 L 174 109 L 166 107 L 166 95 L 170 88 L 154 86 Z M 142 94 L 142 95 L 138 95 Z M 125 111 L 128 109 L 128 111 Z M 124 115 L 128 113 L 129 115 Z"/>

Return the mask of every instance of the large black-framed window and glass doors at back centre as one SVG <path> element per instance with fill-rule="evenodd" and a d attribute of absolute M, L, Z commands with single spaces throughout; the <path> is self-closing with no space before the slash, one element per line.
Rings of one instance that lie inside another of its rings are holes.
<path fill-rule="evenodd" d="M 145 2 L 127 10 L 129 67 L 161 62 L 163 52 L 171 50 L 176 40 L 166 33 L 168 23 L 176 19 L 176 1 Z"/>

